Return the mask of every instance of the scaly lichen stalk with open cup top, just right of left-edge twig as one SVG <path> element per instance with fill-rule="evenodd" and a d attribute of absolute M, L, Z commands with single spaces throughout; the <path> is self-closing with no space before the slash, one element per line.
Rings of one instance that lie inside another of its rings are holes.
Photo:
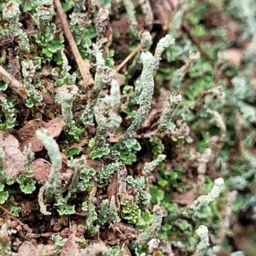
<path fill-rule="evenodd" d="M 28 90 L 28 100 L 26 105 L 32 108 L 34 105 L 38 106 L 43 97 L 38 93 L 35 86 L 32 84 L 33 77 L 37 68 L 40 68 L 40 59 L 38 58 L 38 63 L 34 65 L 32 60 L 22 61 L 22 75 L 24 77 L 23 83 L 25 88 Z"/>

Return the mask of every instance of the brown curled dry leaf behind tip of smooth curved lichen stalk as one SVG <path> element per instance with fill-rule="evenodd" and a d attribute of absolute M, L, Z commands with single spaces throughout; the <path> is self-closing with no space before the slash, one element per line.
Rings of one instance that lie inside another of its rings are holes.
<path fill-rule="evenodd" d="M 48 136 L 55 138 L 58 137 L 64 126 L 63 116 L 57 116 L 50 122 L 46 123 L 42 118 L 35 118 L 30 120 L 19 131 L 18 136 L 20 140 L 20 147 L 22 150 L 24 147 L 28 147 L 31 143 L 31 150 L 33 152 L 39 152 L 43 149 L 44 145 L 36 136 L 36 130 L 45 128 L 47 129 Z"/>

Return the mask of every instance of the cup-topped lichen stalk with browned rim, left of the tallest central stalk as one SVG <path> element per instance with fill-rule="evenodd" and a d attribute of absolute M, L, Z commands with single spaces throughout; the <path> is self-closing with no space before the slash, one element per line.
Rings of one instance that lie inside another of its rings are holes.
<path fill-rule="evenodd" d="M 116 115 L 111 106 L 103 100 L 99 100 L 99 103 L 95 106 L 95 118 L 98 126 L 90 154 L 92 159 L 108 156 L 110 152 L 109 143 L 106 143 L 108 132 L 113 128 L 119 127 L 122 122 L 122 118 Z"/>

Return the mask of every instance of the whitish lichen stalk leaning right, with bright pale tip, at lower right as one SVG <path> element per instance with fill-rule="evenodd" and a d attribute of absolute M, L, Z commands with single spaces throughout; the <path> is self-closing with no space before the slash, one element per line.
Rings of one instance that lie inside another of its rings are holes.
<path fill-rule="evenodd" d="M 222 178 L 214 180 L 214 186 L 212 187 L 208 195 L 199 196 L 192 204 L 179 209 L 179 211 L 170 214 L 168 221 L 172 222 L 177 220 L 180 216 L 191 216 L 195 211 L 200 210 L 203 206 L 211 204 L 216 198 L 220 196 L 221 188 L 224 184 Z"/>

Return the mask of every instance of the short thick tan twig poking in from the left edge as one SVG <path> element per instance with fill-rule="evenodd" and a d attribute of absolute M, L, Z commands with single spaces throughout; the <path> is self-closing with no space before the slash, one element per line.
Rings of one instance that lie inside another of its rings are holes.
<path fill-rule="evenodd" d="M 17 92 L 20 97 L 23 99 L 27 99 L 28 91 L 18 80 L 16 80 L 12 75 L 10 75 L 3 67 L 0 66 L 0 78 L 4 81 L 4 83 L 8 84 L 8 86 L 14 91 Z"/>

